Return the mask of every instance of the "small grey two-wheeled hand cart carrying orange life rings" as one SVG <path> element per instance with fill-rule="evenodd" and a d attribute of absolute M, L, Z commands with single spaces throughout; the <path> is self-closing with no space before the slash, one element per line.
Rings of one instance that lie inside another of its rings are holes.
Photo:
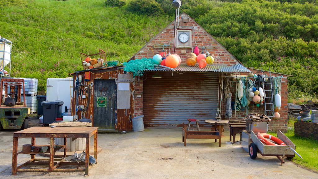
<path fill-rule="evenodd" d="M 283 134 L 280 130 L 277 131 L 277 138 L 282 140 L 286 146 L 269 146 L 263 144 L 251 131 L 251 143 L 249 145 L 249 154 L 251 159 L 256 159 L 257 153 L 259 152 L 262 156 L 275 156 L 280 160 L 280 165 L 285 163 L 284 157 L 294 158 L 295 154 L 297 154 L 301 159 L 301 155 L 298 154 L 296 150 L 296 146 L 294 143 L 289 140 L 286 135 Z"/>

